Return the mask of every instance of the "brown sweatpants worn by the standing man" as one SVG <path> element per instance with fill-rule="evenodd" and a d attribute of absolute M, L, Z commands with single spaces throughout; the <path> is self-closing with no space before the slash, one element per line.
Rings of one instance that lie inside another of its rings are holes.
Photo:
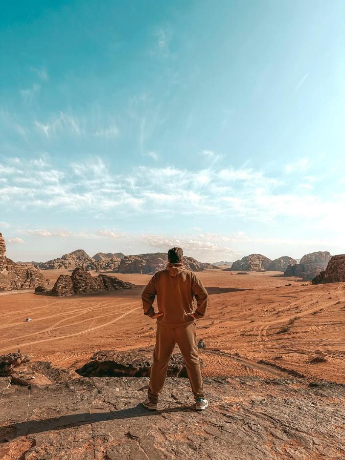
<path fill-rule="evenodd" d="M 148 390 L 148 398 L 152 403 L 157 403 L 158 397 L 162 392 L 167 377 L 169 359 L 176 343 L 185 361 L 195 399 L 205 397 L 195 323 L 170 328 L 157 321 L 156 346 L 153 352 L 150 387 Z"/>

